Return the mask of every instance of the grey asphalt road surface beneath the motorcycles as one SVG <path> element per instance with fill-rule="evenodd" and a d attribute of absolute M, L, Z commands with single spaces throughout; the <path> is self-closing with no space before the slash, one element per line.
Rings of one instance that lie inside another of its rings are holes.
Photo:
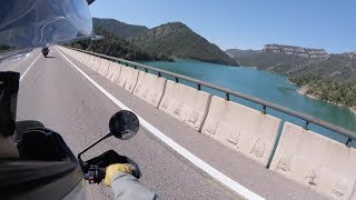
<path fill-rule="evenodd" d="M 108 131 L 110 117 L 120 108 L 85 79 L 55 48 L 49 53 L 50 58 L 44 59 L 39 54 L 40 51 L 34 50 L 22 59 L 0 63 L 1 71 L 21 73 L 18 120 L 41 121 L 61 133 L 71 150 L 78 153 Z M 199 134 L 71 60 L 152 126 L 257 194 L 266 199 L 323 198 Z M 166 199 L 240 198 L 181 158 L 145 128 L 140 128 L 138 134 L 129 141 L 110 138 L 90 150 L 85 158 L 109 149 L 138 162 L 144 173 L 140 181 Z M 112 199 L 111 190 L 101 184 L 88 186 L 87 199 Z"/>

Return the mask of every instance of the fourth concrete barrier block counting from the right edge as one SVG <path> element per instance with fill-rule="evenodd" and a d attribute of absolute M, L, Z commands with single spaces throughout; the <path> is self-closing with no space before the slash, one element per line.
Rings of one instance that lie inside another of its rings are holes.
<path fill-rule="evenodd" d="M 165 78 L 140 71 L 134 94 L 158 108 L 164 97 L 166 81 Z"/>

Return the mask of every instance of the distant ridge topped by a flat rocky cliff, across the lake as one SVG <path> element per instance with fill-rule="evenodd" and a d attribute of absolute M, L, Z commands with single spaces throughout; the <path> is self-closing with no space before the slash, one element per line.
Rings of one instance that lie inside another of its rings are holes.
<path fill-rule="evenodd" d="M 227 52 L 241 66 L 257 67 L 288 77 L 314 73 L 334 80 L 356 79 L 356 54 L 353 52 L 327 53 L 324 49 L 284 44 L 266 44 L 259 52 L 253 53 L 238 49 L 229 49 Z"/>

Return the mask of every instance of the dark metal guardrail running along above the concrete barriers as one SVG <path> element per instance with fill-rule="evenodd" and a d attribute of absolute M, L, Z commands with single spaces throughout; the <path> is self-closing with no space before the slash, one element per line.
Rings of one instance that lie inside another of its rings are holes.
<path fill-rule="evenodd" d="M 263 107 L 263 113 L 265 113 L 265 114 L 267 113 L 267 108 L 270 108 L 270 109 L 277 110 L 279 112 L 296 117 L 296 118 L 301 119 L 301 120 L 305 121 L 305 126 L 304 126 L 305 129 L 308 129 L 309 123 L 314 123 L 316 126 L 326 128 L 328 130 L 332 130 L 332 131 L 335 131 L 335 132 L 337 132 L 339 134 L 345 136 L 347 138 L 347 141 L 346 141 L 345 144 L 347 147 L 349 147 L 352 140 L 356 140 L 356 132 L 353 132 L 350 130 L 344 129 L 344 128 L 338 127 L 338 126 L 335 126 L 333 123 L 329 123 L 327 121 L 320 120 L 318 118 L 315 118 L 315 117 L 312 117 L 312 116 L 308 116 L 308 114 L 305 114 L 305 113 L 288 109 L 286 107 L 283 107 L 283 106 L 279 106 L 279 104 L 276 104 L 276 103 L 273 103 L 273 102 L 268 102 L 268 101 L 265 101 L 265 100 L 251 97 L 251 96 L 247 96 L 247 94 L 230 90 L 228 88 L 218 87 L 218 86 L 211 84 L 209 82 L 197 80 L 197 79 L 194 79 L 194 78 L 190 78 L 190 77 L 181 76 L 181 74 L 174 73 L 174 72 L 170 72 L 170 71 L 157 69 L 157 68 L 149 67 L 149 66 L 146 66 L 146 64 L 141 64 L 141 63 L 137 63 L 137 62 L 132 62 L 132 61 L 128 61 L 128 60 L 123 60 L 123 59 L 119 59 L 119 58 L 115 58 L 115 57 L 110 57 L 110 56 L 106 56 L 106 54 L 100 54 L 100 53 L 86 51 L 86 50 L 81 50 L 81 49 L 76 49 L 76 48 L 70 48 L 70 47 L 67 47 L 67 48 L 72 49 L 72 50 L 77 50 L 77 51 L 81 51 L 81 52 L 85 52 L 85 53 L 98 56 L 98 57 L 101 57 L 101 58 L 105 58 L 105 59 L 115 60 L 115 61 L 118 61 L 119 63 L 125 63 L 126 66 L 130 64 L 135 69 L 137 69 L 139 67 L 139 68 L 142 68 L 146 72 L 149 69 L 149 70 L 156 71 L 158 73 L 158 77 L 161 77 L 162 73 L 164 74 L 168 74 L 168 76 L 174 77 L 176 82 L 178 82 L 179 79 L 182 79 L 182 80 L 186 80 L 186 81 L 189 81 L 189 82 L 194 82 L 194 83 L 197 84 L 197 89 L 198 90 L 200 90 L 200 87 L 204 86 L 204 87 L 207 87 L 207 88 L 224 92 L 226 100 L 229 100 L 230 96 L 235 96 L 235 97 L 238 97 L 238 98 L 255 102 L 255 103 L 260 104 Z"/>

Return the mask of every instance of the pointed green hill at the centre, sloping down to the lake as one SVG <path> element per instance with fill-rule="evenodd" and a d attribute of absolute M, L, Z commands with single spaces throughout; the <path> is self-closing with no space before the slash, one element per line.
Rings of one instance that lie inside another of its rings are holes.
<path fill-rule="evenodd" d="M 180 22 L 161 24 L 128 40 L 144 50 L 156 51 L 168 57 L 238 66 L 216 44 Z"/>

